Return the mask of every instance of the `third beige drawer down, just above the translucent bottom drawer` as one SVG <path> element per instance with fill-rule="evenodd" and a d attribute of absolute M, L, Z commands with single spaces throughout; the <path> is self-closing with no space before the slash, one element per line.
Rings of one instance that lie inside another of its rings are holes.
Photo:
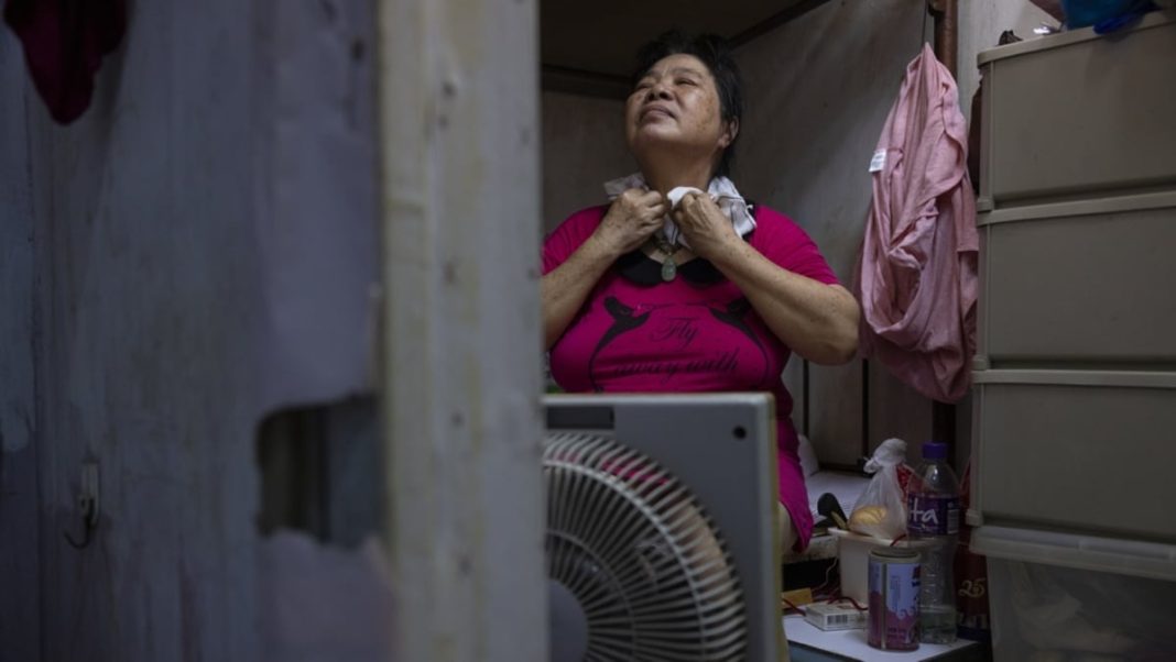
<path fill-rule="evenodd" d="M 1176 373 L 974 373 L 978 525 L 1176 543 Z"/>

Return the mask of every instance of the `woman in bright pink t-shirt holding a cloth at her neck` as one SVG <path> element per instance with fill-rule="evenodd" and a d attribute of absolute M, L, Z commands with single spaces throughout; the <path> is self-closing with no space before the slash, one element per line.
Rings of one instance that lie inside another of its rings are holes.
<path fill-rule="evenodd" d="M 849 360 L 857 303 L 799 227 L 727 178 L 742 95 L 722 40 L 663 34 L 634 80 L 624 121 L 640 175 L 606 184 L 610 205 L 543 243 L 552 376 L 581 392 L 774 393 L 781 531 L 802 549 L 813 519 L 781 373 L 791 351 Z"/>

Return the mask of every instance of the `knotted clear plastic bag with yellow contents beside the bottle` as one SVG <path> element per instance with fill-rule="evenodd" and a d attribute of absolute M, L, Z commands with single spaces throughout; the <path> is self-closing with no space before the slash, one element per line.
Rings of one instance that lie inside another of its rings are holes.
<path fill-rule="evenodd" d="M 866 462 L 866 473 L 874 478 L 858 496 L 849 515 L 849 531 L 886 540 L 907 533 L 907 502 L 898 485 L 898 465 L 907 459 L 907 443 L 887 439 Z"/>

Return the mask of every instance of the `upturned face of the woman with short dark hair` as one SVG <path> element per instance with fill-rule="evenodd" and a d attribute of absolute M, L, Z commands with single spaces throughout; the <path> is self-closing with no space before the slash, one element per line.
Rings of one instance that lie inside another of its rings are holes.
<path fill-rule="evenodd" d="M 639 161 L 657 149 L 714 160 L 734 139 L 734 127 L 722 121 L 715 79 L 694 55 L 670 55 L 650 67 L 624 115 L 626 139 Z"/>

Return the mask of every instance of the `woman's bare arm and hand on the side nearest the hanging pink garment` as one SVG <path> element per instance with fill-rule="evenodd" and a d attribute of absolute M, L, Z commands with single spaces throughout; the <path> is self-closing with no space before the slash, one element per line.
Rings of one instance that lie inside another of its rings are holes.
<path fill-rule="evenodd" d="M 823 365 L 854 358 L 861 312 L 849 291 L 793 273 L 764 257 L 735 234 L 707 196 L 688 195 L 674 218 L 694 252 L 735 283 L 793 351 Z"/>

